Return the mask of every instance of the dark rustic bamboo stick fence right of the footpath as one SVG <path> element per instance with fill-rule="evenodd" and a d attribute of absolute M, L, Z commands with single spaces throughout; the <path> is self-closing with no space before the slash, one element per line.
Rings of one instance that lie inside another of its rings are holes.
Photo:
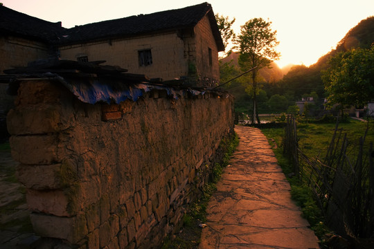
<path fill-rule="evenodd" d="M 294 174 L 314 193 L 329 227 L 338 234 L 374 239 L 374 152 L 365 143 L 367 130 L 353 146 L 335 127 L 323 158 L 309 158 L 300 149 L 294 118 L 287 118 L 284 153 L 294 164 Z"/>

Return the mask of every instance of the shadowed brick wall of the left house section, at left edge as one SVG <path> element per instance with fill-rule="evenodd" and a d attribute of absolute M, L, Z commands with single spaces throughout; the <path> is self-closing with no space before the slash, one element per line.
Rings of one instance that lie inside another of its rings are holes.
<path fill-rule="evenodd" d="M 30 39 L 0 37 L 0 75 L 16 66 L 27 66 L 28 62 L 48 57 L 48 47 Z"/>

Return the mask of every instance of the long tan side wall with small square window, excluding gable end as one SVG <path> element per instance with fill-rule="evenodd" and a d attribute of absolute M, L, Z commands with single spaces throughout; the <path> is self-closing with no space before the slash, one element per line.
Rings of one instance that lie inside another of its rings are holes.
<path fill-rule="evenodd" d="M 139 66 L 138 51 L 144 49 L 152 51 L 153 63 L 150 66 Z M 161 77 L 163 80 L 188 74 L 184 42 L 176 33 L 61 46 L 60 55 L 62 59 L 71 60 L 76 60 L 77 55 L 87 55 L 90 62 L 105 60 L 106 64 L 121 66 L 129 73 Z"/>

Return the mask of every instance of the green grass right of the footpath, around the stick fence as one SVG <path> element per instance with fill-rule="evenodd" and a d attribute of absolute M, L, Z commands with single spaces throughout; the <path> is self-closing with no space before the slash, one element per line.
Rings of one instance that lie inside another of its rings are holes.
<path fill-rule="evenodd" d="M 351 120 L 350 122 L 339 124 L 339 128 L 342 128 L 343 132 L 347 133 L 347 138 L 353 142 L 353 147 L 355 147 L 355 143 L 358 142 L 359 137 L 364 136 L 367 126 L 368 133 L 366 135 L 366 143 L 374 142 L 373 123 L 368 124 L 357 120 Z M 324 157 L 332 134 L 334 133 L 335 124 L 299 122 L 297 127 L 299 146 L 304 153 L 309 157 Z M 314 230 L 317 237 L 322 241 L 323 235 L 330 232 L 330 230 L 324 223 L 323 215 L 321 210 L 319 210 L 317 202 L 314 200 L 314 195 L 310 188 L 301 183 L 298 178 L 292 177 L 292 163 L 283 155 L 283 147 L 281 146 L 284 133 L 283 129 L 269 128 L 261 129 L 261 131 L 267 136 L 274 154 L 276 154 L 278 164 L 282 167 L 283 172 L 287 176 L 287 180 L 290 181 L 292 199 L 301 207 L 303 216 L 309 221 L 312 230 Z"/>

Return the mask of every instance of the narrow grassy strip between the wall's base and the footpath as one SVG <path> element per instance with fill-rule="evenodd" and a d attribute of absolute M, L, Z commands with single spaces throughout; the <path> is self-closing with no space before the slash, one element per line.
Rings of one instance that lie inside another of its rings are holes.
<path fill-rule="evenodd" d="M 213 167 L 213 180 L 204 185 L 202 190 L 202 197 L 197 199 L 192 205 L 190 210 L 183 216 L 182 232 L 177 234 L 174 238 L 167 237 L 163 241 L 162 249 L 193 249 L 199 248 L 200 237 L 202 229 L 200 224 L 206 222 L 206 208 L 208 201 L 211 199 L 212 194 L 215 192 L 216 183 L 220 180 L 224 167 L 229 165 L 229 160 L 238 147 L 239 138 L 235 135 L 232 140 L 222 140 L 221 147 L 225 149 L 224 158 L 222 163 L 216 163 Z"/>

